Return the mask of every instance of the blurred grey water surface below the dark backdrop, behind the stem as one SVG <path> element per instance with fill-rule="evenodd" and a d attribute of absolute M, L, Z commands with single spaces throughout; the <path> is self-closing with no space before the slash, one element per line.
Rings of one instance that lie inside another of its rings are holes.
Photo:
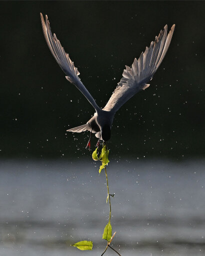
<path fill-rule="evenodd" d="M 0 162 L 0 255 L 101 255 L 105 175 L 90 161 Z M 113 247 L 121 255 L 204 255 L 204 160 L 107 167 Z M 92 251 L 68 246 L 92 240 Z M 111 249 L 104 255 L 116 255 Z"/>

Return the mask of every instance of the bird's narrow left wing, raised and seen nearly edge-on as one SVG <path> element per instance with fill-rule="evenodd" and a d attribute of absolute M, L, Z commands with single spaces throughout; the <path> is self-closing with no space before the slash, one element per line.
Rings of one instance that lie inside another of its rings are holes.
<path fill-rule="evenodd" d="M 82 94 L 87 98 L 87 100 L 91 103 L 91 105 L 95 108 L 95 110 L 99 109 L 98 105 L 96 104 L 93 97 L 90 95 L 89 91 L 85 88 L 83 83 L 80 81 L 78 77 L 79 72 L 77 68 L 74 66 L 74 63 L 69 58 L 69 55 L 64 51 L 56 35 L 55 34 L 52 35 L 52 32 L 50 30 L 50 24 L 47 19 L 47 15 L 45 15 L 45 21 L 42 16 L 42 13 L 40 13 L 40 18 L 42 23 L 42 30 L 43 30 L 47 45 L 53 57 L 57 61 L 58 65 L 67 75 L 65 76 L 66 79 L 71 83 L 73 83 L 82 92 Z"/>

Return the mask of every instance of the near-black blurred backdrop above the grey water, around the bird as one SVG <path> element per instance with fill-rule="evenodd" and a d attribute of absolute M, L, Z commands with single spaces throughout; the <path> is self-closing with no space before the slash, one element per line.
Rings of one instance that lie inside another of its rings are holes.
<path fill-rule="evenodd" d="M 43 37 L 40 12 L 104 106 L 165 24 L 167 54 L 150 82 L 115 115 L 112 157 L 200 157 L 204 147 L 204 1 L 0 1 L 0 157 L 89 155 L 93 108 L 70 84 Z M 97 139 L 92 138 L 92 149 Z"/>

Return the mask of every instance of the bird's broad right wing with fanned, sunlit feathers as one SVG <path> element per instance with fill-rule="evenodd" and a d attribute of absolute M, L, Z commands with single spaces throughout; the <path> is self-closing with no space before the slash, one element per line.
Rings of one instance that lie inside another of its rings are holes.
<path fill-rule="evenodd" d="M 163 31 L 161 30 L 159 35 L 155 37 L 155 41 L 151 42 L 149 48 L 146 47 L 145 51 L 141 52 L 138 60 L 134 58 L 131 68 L 125 66 L 126 69 L 122 73 L 123 77 L 118 82 L 103 110 L 116 112 L 135 93 L 149 86 L 146 83 L 152 78 L 163 60 L 174 27 L 175 24 L 172 25 L 167 35 L 167 25 L 165 25 Z"/>

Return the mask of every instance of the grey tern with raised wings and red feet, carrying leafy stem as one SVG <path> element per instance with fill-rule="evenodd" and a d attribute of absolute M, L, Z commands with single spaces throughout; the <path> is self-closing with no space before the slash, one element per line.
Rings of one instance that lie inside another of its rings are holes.
<path fill-rule="evenodd" d="M 64 51 L 56 35 L 52 35 L 47 15 L 45 15 L 44 20 L 42 13 L 40 13 L 40 18 L 47 45 L 58 65 L 66 74 L 65 78 L 81 91 L 95 109 L 94 115 L 85 124 L 67 131 L 82 132 L 88 130 L 90 135 L 95 133 L 98 138 L 97 145 L 100 140 L 109 140 L 115 112 L 134 94 L 149 86 L 147 82 L 151 80 L 166 54 L 175 24 L 172 25 L 168 34 L 167 25 L 165 25 L 163 31 L 160 30 L 159 35 L 155 36 L 155 40 L 151 41 L 150 46 L 146 47 L 144 52 L 141 52 L 139 58 L 134 58 L 131 67 L 125 66 L 126 69 L 123 70 L 122 78 L 106 105 L 101 109 L 81 82 L 78 76 L 79 71 L 74 66 L 68 53 Z M 90 137 L 87 146 L 90 147 Z"/>

